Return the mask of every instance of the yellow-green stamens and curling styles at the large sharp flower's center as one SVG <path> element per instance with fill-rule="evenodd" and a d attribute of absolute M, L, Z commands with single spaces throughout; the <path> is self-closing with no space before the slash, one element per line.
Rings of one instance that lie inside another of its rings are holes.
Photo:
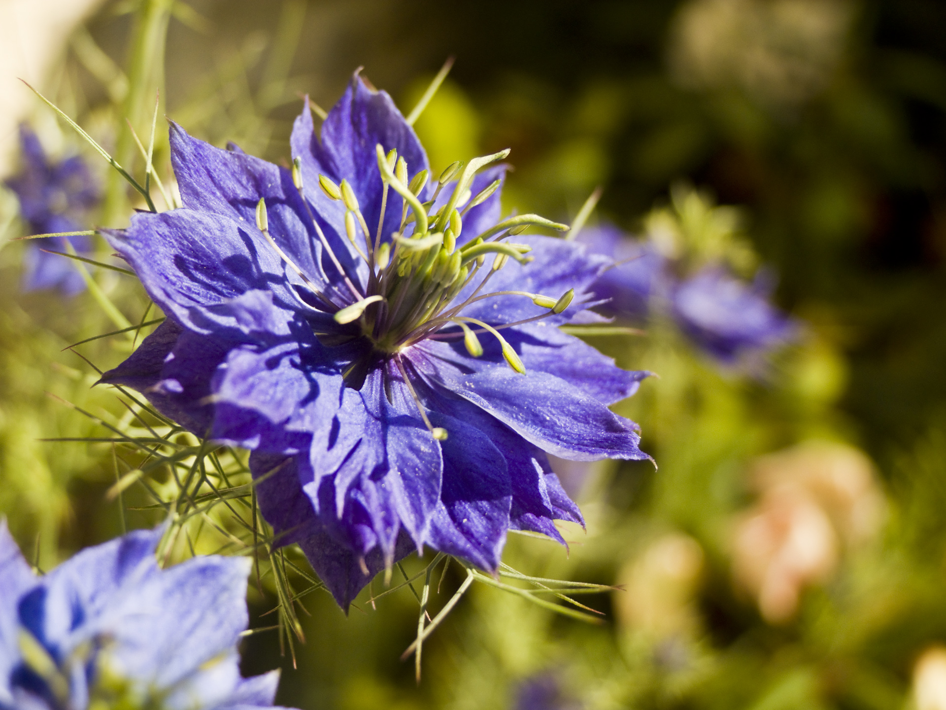
<path fill-rule="evenodd" d="M 330 200 L 341 201 L 345 206 L 345 234 L 368 267 L 367 283 L 363 286 L 359 287 L 355 282 L 357 279 L 353 280 L 346 274 L 303 197 L 316 234 L 327 256 L 342 275 L 343 284 L 340 286 L 343 285 L 344 290 L 351 293 L 354 302 L 342 305 L 321 292 L 270 236 L 265 202 L 260 200 L 256 206 L 256 225 L 259 230 L 289 268 L 305 281 L 324 310 L 332 312 L 335 321 L 341 325 L 357 323 L 359 326 L 359 333 L 347 336 L 317 333 L 324 336 L 324 345 L 342 345 L 359 337 L 371 344 L 370 351 L 345 371 L 345 383 L 359 389 L 364 382 L 368 361 L 382 358 L 394 360 L 411 388 L 407 373 L 400 362 L 400 353 L 407 347 L 427 338 L 463 338 L 469 354 L 480 357 L 483 350 L 477 335 L 484 332 L 498 339 L 503 357 L 513 369 L 525 372 L 516 351 L 505 341 L 499 330 L 565 311 L 571 303 L 574 291 L 569 290 L 558 297 L 552 297 L 526 291 L 484 293 L 485 287 L 490 277 L 502 269 L 510 258 L 520 264 L 532 260 L 532 257 L 525 256 L 531 251 L 528 244 L 511 242 L 508 238 L 521 234 L 532 225 L 559 231 L 567 230 L 568 225 L 551 222 L 534 214 L 517 215 L 498 222 L 472 239 L 461 240 L 466 213 L 484 203 L 499 189 L 500 181 L 495 180 L 475 196 L 472 195 L 471 186 L 476 172 L 505 158 L 509 151 L 474 158 L 465 165 L 460 162 L 452 164 L 438 178 L 429 200 L 422 203 L 420 195 L 429 182 L 428 170 L 421 170 L 409 181 L 408 166 L 403 157 L 397 157 L 396 151 L 385 154 L 380 145 L 377 145 L 376 150 L 382 197 L 380 219 L 374 233 L 365 222 L 351 184 L 342 180 L 340 185 L 336 185 L 326 176 L 319 176 L 319 186 L 325 195 Z M 300 195 L 303 195 L 301 164 L 299 158 L 293 161 L 292 181 Z M 445 188 L 450 190 L 449 196 L 445 203 L 435 209 L 437 199 Z M 404 206 L 394 234 L 384 235 L 381 232 L 390 190 L 394 190 L 404 199 Z M 489 255 L 493 258 L 487 267 L 485 261 Z M 472 284 L 476 281 L 479 283 L 474 288 Z M 471 289 L 467 290 L 467 286 Z M 459 299 L 458 296 L 462 292 L 464 296 Z M 548 311 L 495 327 L 463 315 L 464 309 L 472 303 L 508 295 L 528 297 L 536 306 Z M 421 415 L 427 421 L 422 408 Z M 431 429 L 431 432 L 433 431 Z"/>

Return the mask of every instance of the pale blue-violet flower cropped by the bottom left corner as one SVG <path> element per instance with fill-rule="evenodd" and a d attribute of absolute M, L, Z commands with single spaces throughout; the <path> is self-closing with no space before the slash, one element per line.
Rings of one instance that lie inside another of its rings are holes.
<path fill-rule="evenodd" d="M 279 672 L 239 673 L 250 560 L 162 570 L 161 535 L 132 532 L 34 577 L 0 520 L 0 708 L 272 707 Z"/>

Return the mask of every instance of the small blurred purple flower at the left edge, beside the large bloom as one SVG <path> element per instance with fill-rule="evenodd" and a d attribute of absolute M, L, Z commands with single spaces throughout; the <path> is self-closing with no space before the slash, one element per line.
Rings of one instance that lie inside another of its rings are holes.
<path fill-rule="evenodd" d="M 20 126 L 23 170 L 10 178 L 7 186 L 20 200 L 20 214 L 31 234 L 76 232 L 83 213 L 98 202 L 98 188 L 85 161 L 75 155 L 60 163 L 50 162 L 40 139 L 26 125 Z M 64 252 L 70 240 L 79 253 L 89 252 L 88 237 L 50 237 L 31 240 L 24 256 L 25 291 L 60 288 L 75 295 L 85 288 L 82 276 L 69 259 L 43 250 Z"/>

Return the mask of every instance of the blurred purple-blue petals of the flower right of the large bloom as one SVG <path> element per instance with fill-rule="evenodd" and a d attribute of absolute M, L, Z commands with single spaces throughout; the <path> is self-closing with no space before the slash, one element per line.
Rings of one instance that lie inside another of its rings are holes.
<path fill-rule="evenodd" d="M 710 261 L 687 275 L 674 249 L 655 239 L 632 240 L 606 223 L 585 229 L 577 240 L 615 260 L 592 287 L 607 301 L 601 311 L 638 321 L 668 316 L 721 364 L 752 364 L 797 335 L 797 324 L 771 305 L 764 271 L 749 284 Z"/>

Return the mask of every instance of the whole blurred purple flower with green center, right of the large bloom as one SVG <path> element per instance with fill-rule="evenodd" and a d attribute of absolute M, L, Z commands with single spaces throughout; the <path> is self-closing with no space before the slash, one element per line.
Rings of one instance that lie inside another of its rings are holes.
<path fill-rule="evenodd" d="M 647 219 L 647 240 L 632 240 L 609 224 L 582 231 L 578 241 L 616 263 L 594 286 L 607 300 L 602 310 L 638 320 L 665 315 L 727 365 L 743 364 L 792 339 L 797 325 L 769 303 L 766 273 L 751 284 L 734 275 L 753 260 L 735 238 L 734 218 L 730 208 L 676 189 L 673 209 Z"/>

